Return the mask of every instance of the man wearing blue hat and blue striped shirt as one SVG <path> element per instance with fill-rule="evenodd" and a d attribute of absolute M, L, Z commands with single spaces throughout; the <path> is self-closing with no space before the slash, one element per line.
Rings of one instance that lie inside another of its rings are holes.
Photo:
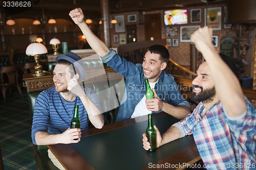
<path fill-rule="evenodd" d="M 94 127 L 103 127 L 96 92 L 78 83 L 85 77 L 83 61 L 78 55 L 69 52 L 57 56 L 53 70 L 54 86 L 40 92 L 35 102 L 31 134 L 34 144 L 77 143 L 81 130 L 89 127 L 88 118 Z M 75 105 L 79 105 L 80 129 L 70 129 Z"/>

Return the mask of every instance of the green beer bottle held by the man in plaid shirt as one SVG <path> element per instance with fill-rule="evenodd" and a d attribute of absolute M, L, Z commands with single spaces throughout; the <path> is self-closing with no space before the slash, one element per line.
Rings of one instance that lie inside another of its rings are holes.
<path fill-rule="evenodd" d="M 153 125 L 153 117 L 152 114 L 148 114 L 148 125 L 146 128 L 146 137 L 147 141 L 150 142 L 151 148 L 148 152 L 155 152 L 157 150 L 157 142 L 156 142 L 157 131 Z"/>

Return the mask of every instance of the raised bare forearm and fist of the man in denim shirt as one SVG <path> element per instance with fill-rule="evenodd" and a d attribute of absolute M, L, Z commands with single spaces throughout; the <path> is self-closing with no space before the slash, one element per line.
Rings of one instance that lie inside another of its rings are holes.
<path fill-rule="evenodd" d="M 69 16 L 81 29 L 83 35 L 86 37 L 87 42 L 96 54 L 98 54 L 100 57 L 103 57 L 110 52 L 108 46 L 106 46 L 103 41 L 94 35 L 91 29 L 87 26 L 86 22 L 84 22 L 84 15 L 81 8 L 75 8 L 74 10 L 70 11 Z"/>

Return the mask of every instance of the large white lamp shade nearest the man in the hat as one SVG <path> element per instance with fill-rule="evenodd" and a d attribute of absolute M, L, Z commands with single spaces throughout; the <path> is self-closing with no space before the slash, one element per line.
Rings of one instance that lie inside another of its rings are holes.
<path fill-rule="evenodd" d="M 48 53 L 46 46 L 41 43 L 38 43 L 36 40 L 29 44 L 29 46 L 26 49 L 26 55 L 28 56 L 35 56 L 46 53 Z"/>

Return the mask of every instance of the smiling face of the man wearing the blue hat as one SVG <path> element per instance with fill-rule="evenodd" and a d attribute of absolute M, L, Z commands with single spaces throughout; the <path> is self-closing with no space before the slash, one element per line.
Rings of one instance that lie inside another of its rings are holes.
<path fill-rule="evenodd" d="M 68 92 L 68 81 L 71 79 L 69 65 L 56 64 L 53 70 L 53 82 L 56 92 Z"/>

